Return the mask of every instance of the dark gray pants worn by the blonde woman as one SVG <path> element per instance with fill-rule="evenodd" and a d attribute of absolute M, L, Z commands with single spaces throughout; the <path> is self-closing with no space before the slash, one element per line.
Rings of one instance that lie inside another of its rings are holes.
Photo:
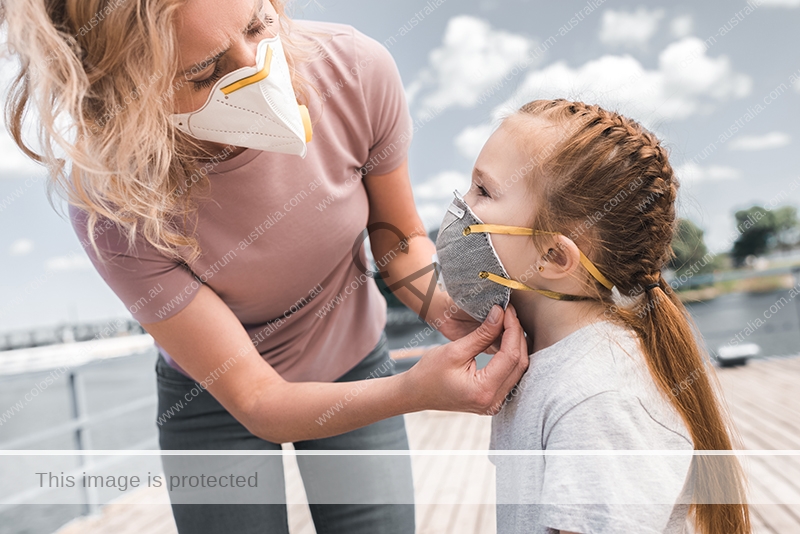
<path fill-rule="evenodd" d="M 372 352 L 337 382 L 366 379 L 373 372 L 394 373 L 385 333 Z M 280 450 L 279 444 L 251 434 L 207 391 L 193 397 L 189 392 L 195 382 L 160 356 L 156 374 L 159 414 L 176 404 L 182 406 L 180 411 L 173 409 L 166 421 L 161 419 L 162 450 Z M 392 417 L 294 446 L 297 450 L 408 450 L 408 439 L 403 418 Z M 414 490 L 408 456 L 298 456 L 297 460 L 318 534 L 413 534 Z M 162 462 L 167 480 L 175 473 L 257 472 L 258 491 L 263 492 L 258 495 L 259 504 L 238 504 L 240 500 L 217 504 L 226 502 L 218 497 L 208 501 L 213 504 L 186 504 L 203 502 L 208 494 L 198 498 L 191 491 L 171 491 L 180 534 L 288 534 L 280 456 L 162 456 Z"/>

